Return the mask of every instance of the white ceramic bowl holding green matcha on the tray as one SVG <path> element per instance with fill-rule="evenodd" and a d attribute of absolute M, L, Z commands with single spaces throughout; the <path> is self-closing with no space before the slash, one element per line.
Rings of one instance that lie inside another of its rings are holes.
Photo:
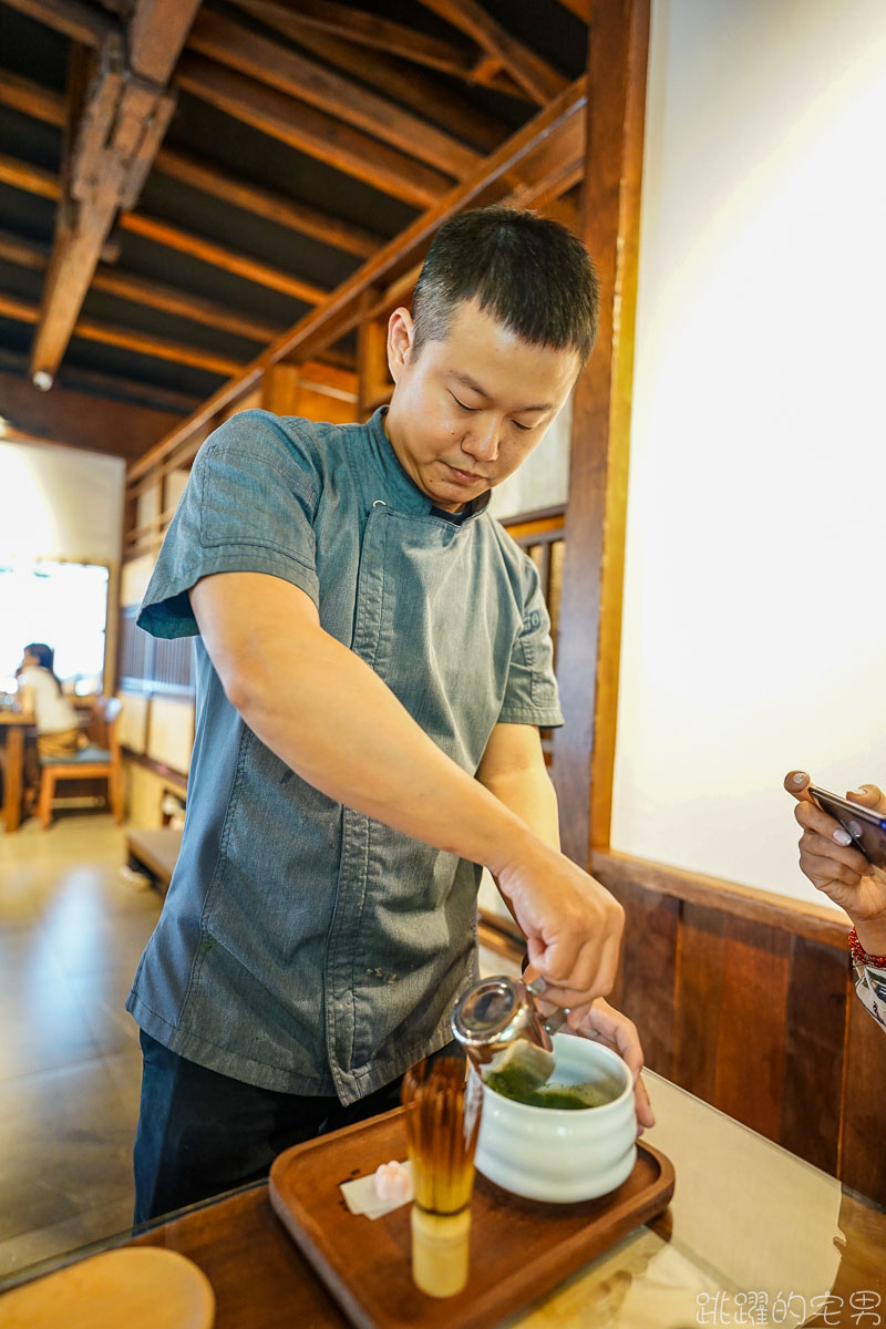
<path fill-rule="evenodd" d="M 484 1086 L 477 1171 L 530 1200 L 592 1200 L 624 1181 L 636 1159 L 631 1073 L 615 1053 L 575 1034 L 555 1034 L 558 1084 L 599 1083 L 616 1095 L 602 1107 L 530 1107 Z M 472 1075 L 477 1073 L 472 1070 Z"/>

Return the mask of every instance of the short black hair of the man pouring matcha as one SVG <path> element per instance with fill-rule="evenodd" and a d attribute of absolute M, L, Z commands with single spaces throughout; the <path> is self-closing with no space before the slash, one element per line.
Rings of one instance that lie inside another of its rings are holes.
<path fill-rule="evenodd" d="M 440 227 L 412 302 L 417 356 L 441 342 L 462 300 L 531 346 L 571 348 L 586 364 L 599 318 L 599 282 L 580 241 L 559 222 L 515 207 L 480 207 Z"/>

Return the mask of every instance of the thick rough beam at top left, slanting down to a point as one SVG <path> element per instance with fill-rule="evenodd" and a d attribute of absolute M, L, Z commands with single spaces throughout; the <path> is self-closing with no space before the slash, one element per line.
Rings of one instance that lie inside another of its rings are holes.
<path fill-rule="evenodd" d="M 50 8 L 64 12 L 72 3 Z M 130 64 L 122 29 L 113 21 L 108 28 L 105 16 L 94 64 L 86 68 L 84 45 L 72 48 L 61 198 L 31 356 L 41 387 L 58 371 L 117 211 L 134 206 L 166 132 L 175 102 L 165 84 L 198 4 L 138 0 Z"/>

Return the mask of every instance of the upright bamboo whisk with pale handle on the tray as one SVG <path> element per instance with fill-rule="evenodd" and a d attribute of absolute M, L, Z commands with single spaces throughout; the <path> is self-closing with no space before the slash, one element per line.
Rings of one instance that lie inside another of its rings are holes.
<path fill-rule="evenodd" d="M 465 1062 L 418 1062 L 402 1080 L 412 1160 L 412 1277 L 432 1297 L 452 1297 L 468 1282 L 470 1192 L 482 1086 Z"/>

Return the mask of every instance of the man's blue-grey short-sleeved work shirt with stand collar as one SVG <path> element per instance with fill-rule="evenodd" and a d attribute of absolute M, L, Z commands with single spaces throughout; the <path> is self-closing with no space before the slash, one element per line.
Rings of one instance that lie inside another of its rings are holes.
<path fill-rule="evenodd" d="M 128 1007 L 190 1061 L 343 1103 L 449 1039 L 473 974 L 480 869 L 343 807 L 275 756 L 224 696 L 190 587 L 226 571 L 299 586 L 470 775 L 497 723 L 562 723 L 531 560 L 487 500 L 461 524 L 434 514 L 383 420 L 244 411 L 217 429 L 138 619 L 155 637 L 197 637 L 197 728 L 181 855 Z M 304 704 L 279 686 L 282 706 Z M 347 730 L 336 739 L 347 750 Z"/>

